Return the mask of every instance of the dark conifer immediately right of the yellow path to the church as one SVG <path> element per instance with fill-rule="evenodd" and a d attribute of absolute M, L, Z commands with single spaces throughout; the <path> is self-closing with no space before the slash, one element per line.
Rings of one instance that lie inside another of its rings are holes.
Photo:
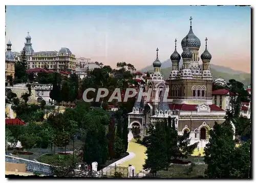
<path fill-rule="evenodd" d="M 145 152 L 147 159 L 145 159 L 143 169 L 151 169 L 151 172 L 156 175 L 157 171 L 165 168 L 168 164 L 165 123 L 157 122 L 155 127 L 150 127 L 149 133 Z"/>

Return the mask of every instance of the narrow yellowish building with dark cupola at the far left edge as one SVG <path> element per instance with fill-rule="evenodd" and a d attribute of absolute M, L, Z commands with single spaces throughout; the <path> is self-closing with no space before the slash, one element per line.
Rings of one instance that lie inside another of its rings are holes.
<path fill-rule="evenodd" d="M 11 49 L 12 43 L 9 40 L 7 43 L 7 49 L 5 52 L 5 79 L 7 80 L 7 76 L 12 76 L 14 79 L 15 74 L 15 55 L 14 52 L 12 52 Z"/>

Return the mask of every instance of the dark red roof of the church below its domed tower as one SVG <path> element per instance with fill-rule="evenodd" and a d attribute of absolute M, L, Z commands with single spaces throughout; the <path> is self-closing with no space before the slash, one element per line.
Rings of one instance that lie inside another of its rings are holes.
<path fill-rule="evenodd" d="M 170 110 L 181 110 L 181 111 L 197 111 L 198 105 L 196 104 L 169 104 Z M 211 111 L 224 111 L 222 108 L 215 104 L 209 105 Z"/>

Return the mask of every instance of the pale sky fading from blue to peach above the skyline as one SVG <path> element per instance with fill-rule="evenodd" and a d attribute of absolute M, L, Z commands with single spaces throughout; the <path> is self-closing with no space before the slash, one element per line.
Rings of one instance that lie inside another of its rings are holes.
<path fill-rule="evenodd" d="M 27 32 L 37 51 L 66 47 L 76 57 L 115 67 L 151 65 L 159 48 L 160 61 L 181 54 L 190 16 L 199 53 L 207 49 L 211 63 L 250 73 L 251 9 L 239 6 L 7 6 L 6 43 L 12 51 L 24 47 Z M 200 63 L 202 61 L 200 60 Z"/>

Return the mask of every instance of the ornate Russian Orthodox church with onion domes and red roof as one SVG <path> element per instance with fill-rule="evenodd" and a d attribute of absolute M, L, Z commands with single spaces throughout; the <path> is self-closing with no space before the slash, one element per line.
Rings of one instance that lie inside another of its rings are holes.
<path fill-rule="evenodd" d="M 137 135 L 146 135 L 148 124 L 154 125 L 159 120 L 171 117 L 179 134 L 190 132 L 191 143 L 199 142 L 199 147 L 205 147 L 209 140 L 208 131 L 215 122 L 225 121 L 225 110 L 212 104 L 213 80 L 207 38 L 204 52 L 199 57 L 201 41 L 193 32 L 191 19 L 189 32 L 181 41 L 181 55 L 177 52 L 175 39 L 175 49 L 170 55 L 172 70 L 169 78 L 164 80 L 160 73 L 158 49 L 153 62 L 154 72 L 138 73 L 136 76 L 145 84 L 140 85 L 143 88 L 142 100 L 137 100 L 129 113 L 129 140 Z M 181 58 L 183 63 L 179 67 Z M 200 58 L 202 67 L 199 65 Z M 148 95 L 149 89 L 152 89 L 151 95 Z M 163 100 L 166 89 L 168 102 Z"/>

